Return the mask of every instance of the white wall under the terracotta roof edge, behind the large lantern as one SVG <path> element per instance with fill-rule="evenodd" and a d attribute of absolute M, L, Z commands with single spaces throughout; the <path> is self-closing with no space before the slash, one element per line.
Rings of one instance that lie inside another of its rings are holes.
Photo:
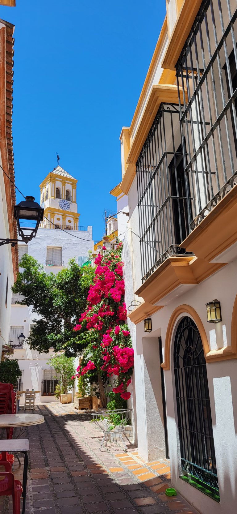
<path fill-rule="evenodd" d="M 0 163 L 2 166 L 2 158 L 0 155 Z M 4 176 L 0 172 L 0 237 L 9 237 L 9 225 L 7 215 L 6 193 L 4 185 Z M 6 286 L 8 278 L 8 296 L 6 304 Z M 11 245 L 0 246 L 0 356 L 2 355 L 3 344 L 7 344 L 10 315 L 11 315 L 11 286 L 14 283 L 13 266 L 11 256 Z"/>

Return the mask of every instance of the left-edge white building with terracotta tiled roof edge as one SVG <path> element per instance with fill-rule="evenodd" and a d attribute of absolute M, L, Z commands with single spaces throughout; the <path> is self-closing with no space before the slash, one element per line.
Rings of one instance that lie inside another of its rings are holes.
<path fill-rule="evenodd" d="M 0 239 L 17 240 L 14 205 L 14 159 L 12 143 L 12 84 L 13 84 L 13 32 L 14 26 L 0 21 Z M 7 50 L 8 48 L 8 50 Z M 8 70 L 8 71 L 7 71 Z M 4 171 L 3 171 L 4 170 Z M 9 180 L 11 178 L 11 181 Z M 11 286 L 18 269 L 17 245 L 0 241 L 0 357 L 7 353 Z"/>

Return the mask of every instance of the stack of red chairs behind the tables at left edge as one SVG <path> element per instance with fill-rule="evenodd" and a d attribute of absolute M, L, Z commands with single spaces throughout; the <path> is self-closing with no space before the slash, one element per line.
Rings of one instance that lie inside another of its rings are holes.
<path fill-rule="evenodd" d="M 13 391 L 12 384 L 0 383 L 0 414 L 16 413 L 16 393 Z M 7 439 L 12 439 L 13 428 L 7 428 Z M 17 456 L 18 458 L 18 456 Z M 19 459 L 18 459 L 19 460 Z M 0 464 L 4 466 L 8 462 L 11 466 L 14 463 L 14 455 L 8 452 L 0 454 Z"/>

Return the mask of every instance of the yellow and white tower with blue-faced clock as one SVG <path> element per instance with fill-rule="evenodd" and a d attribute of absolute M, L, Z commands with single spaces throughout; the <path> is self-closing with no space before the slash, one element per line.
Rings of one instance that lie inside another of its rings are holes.
<path fill-rule="evenodd" d="M 42 228 L 63 228 L 78 230 L 79 216 L 76 203 L 77 180 L 61 166 L 57 166 L 43 180 L 41 189 L 41 206 L 48 218 L 42 222 Z M 53 225 L 54 224 L 54 225 Z"/>

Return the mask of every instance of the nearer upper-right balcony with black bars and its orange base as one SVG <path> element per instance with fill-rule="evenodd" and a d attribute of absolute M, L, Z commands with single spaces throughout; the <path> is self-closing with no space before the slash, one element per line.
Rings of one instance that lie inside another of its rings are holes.
<path fill-rule="evenodd" d="M 231 260 L 237 241 L 236 20 L 236 5 L 203 4 L 176 66 L 189 193 L 181 247 L 209 262 Z"/>

